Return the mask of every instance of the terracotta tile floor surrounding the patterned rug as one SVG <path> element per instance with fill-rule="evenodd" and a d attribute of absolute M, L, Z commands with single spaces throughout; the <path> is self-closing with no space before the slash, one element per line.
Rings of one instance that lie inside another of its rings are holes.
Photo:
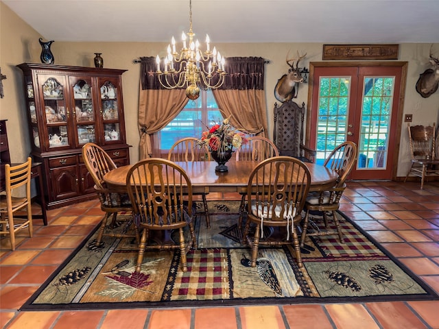
<path fill-rule="evenodd" d="M 348 182 L 341 210 L 439 292 L 439 183 L 419 187 L 418 182 Z M 99 211 L 97 201 L 49 210 L 49 226 L 34 219 L 34 238 L 21 233 L 15 252 L 1 239 L 1 328 L 439 328 L 439 300 L 18 312 L 102 218 Z"/>

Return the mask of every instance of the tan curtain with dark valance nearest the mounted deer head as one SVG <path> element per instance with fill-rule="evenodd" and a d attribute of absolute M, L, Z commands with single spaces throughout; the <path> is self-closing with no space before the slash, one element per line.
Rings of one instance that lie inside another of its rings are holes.
<path fill-rule="evenodd" d="M 257 57 L 226 58 L 229 74 L 221 88 L 213 91 L 218 108 L 238 130 L 268 137 L 265 101 L 265 60 Z"/>

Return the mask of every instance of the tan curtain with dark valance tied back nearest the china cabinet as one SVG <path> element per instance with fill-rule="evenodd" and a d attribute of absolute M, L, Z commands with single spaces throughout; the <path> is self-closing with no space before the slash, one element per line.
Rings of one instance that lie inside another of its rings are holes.
<path fill-rule="evenodd" d="M 151 135 L 161 130 L 180 113 L 189 101 L 185 89 L 165 89 L 158 82 L 154 57 L 141 58 L 139 91 L 140 159 L 152 156 Z"/>

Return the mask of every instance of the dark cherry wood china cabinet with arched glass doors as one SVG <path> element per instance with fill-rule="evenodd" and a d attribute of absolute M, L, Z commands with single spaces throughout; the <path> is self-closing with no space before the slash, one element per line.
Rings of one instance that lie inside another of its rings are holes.
<path fill-rule="evenodd" d="M 96 196 L 82 146 L 103 147 L 118 166 L 129 164 L 123 117 L 126 70 L 23 63 L 26 112 L 34 161 L 43 163 L 47 208 Z"/>

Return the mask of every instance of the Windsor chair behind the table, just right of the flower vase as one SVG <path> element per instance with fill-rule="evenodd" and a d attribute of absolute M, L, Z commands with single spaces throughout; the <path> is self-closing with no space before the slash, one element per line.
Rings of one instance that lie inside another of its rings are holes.
<path fill-rule="evenodd" d="M 248 138 L 246 144 L 241 145 L 236 150 L 237 161 L 263 161 L 273 156 L 279 156 L 279 151 L 270 139 L 261 136 Z M 246 195 L 241 193 L 241 204 L 239 204 L 238 227 L 241 228 L 244 212 L 246 211 Z"/>

